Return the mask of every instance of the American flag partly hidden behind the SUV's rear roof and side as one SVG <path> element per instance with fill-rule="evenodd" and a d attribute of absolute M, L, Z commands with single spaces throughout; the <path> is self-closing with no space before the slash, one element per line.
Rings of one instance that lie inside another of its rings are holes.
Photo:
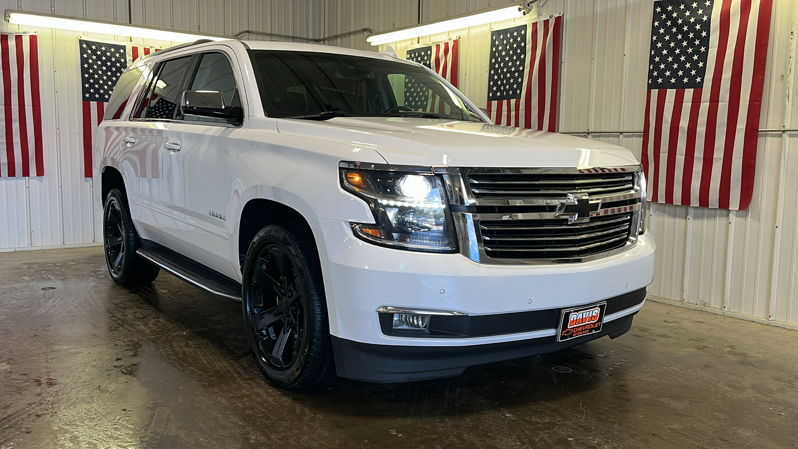
<path fill-rule="evenodd" d="M 83 99 L 83 167 L 84 176 L 92 177 L 94 135 L 105 114 L 105 103 L 109 101 L 119 75 L 140 56 L 159 49 L 124 42 L 113 44 L 85 39 L 79 39 L 78 45 L 81 51 Z"/>

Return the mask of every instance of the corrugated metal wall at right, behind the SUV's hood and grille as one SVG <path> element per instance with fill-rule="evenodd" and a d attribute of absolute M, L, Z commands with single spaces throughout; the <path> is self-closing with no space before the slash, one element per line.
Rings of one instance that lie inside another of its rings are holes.
<path fill-rule="evenodd" d="M 389 30 L 463 14 L 504 0 L 326 0 L 325 34 Z M 639 155 L 645 109 L 650 0 L 540 0 L 539 14 L 563 15 L 560 129 L 626 146 Z M 798 2 L 775 0 L 760 128 L 798 129 L 793 113 Z M 504 28 L 507 24 L 494 24 Z M 490 26 L 425 36 L 409 45 L 459 35 L 460 86 L 477 105 L 487 97 Z M 330 42 L 334 43 L 334 42 Z M 367 49 L 365 37 L 340 46 Z M 617 131 L 628 131 L 617 133 Z M 588 131 L 612 131 L 590 133 Z M 798 324 L 798 133 L 760 133 L 757 180 L 749 210 L 654 205 L 658 242 L 650 295 L 774 324 Z M 792 157 L 791 157 L 792 156 Z"/>

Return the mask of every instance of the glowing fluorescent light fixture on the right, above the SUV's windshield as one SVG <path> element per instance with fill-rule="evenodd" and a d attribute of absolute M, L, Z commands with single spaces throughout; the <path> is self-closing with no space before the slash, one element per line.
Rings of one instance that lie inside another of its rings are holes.
<path fill-rule="evenodd" d="M 501 22 L 511 18 L 523 17 L 523 11 L 518 5 L 500 6 L 490 10 L 477 11 L 476 13 L 461 14 L 452 18 L 445 18 L 424 25 L 405 26 L 398 30 L 386 33 L 372 34 L 365 40 L 373 46 L 389 42 L 404 41 L 405 39 L 418 38 L 428 34 L 445 33 L 452 30 L 462 30 L 469 26 L 483 25 L 491 22 Z"/>

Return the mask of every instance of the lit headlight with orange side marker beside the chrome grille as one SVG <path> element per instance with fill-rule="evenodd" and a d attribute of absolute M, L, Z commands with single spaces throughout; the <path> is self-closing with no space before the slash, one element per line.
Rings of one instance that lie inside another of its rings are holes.
<path fill-rule="evenodd" d="M 443 183 L 429 173 L 341 169 L 344 189 L 361 197 L 377 224 L 352 224 L 370 243 L 425 252 L 456 252 Z"/>

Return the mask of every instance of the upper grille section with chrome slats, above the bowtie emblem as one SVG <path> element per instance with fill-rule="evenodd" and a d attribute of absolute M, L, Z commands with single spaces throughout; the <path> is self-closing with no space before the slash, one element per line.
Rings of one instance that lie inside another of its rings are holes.
<path fill-rule="evenodd" d="M 634 189 L 634 173 L 471 174 L 468 186 L 475 198 L 603 197 Z"/>

